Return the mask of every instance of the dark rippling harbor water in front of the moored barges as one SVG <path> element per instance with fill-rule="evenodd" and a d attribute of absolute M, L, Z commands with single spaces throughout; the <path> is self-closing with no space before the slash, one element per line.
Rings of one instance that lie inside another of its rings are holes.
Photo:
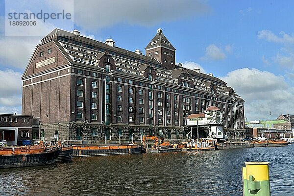
<path fill-rule="evenodd" d="M 73 158 L 0 170 L 0 195 L 242 196 L 246 161 L 270 162 L 271 196 L 294 195 L 294 144 Z"/>

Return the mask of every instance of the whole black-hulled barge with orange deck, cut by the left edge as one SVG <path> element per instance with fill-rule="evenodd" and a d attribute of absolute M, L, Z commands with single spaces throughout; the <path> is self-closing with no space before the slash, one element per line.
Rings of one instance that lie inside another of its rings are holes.
<path fill-rule="evenodd" d="M 58 157 L 58 148 L 45 149 L 40 146 L 1 147 L 0 168 L 17 168 L 49 165 Z"/>

